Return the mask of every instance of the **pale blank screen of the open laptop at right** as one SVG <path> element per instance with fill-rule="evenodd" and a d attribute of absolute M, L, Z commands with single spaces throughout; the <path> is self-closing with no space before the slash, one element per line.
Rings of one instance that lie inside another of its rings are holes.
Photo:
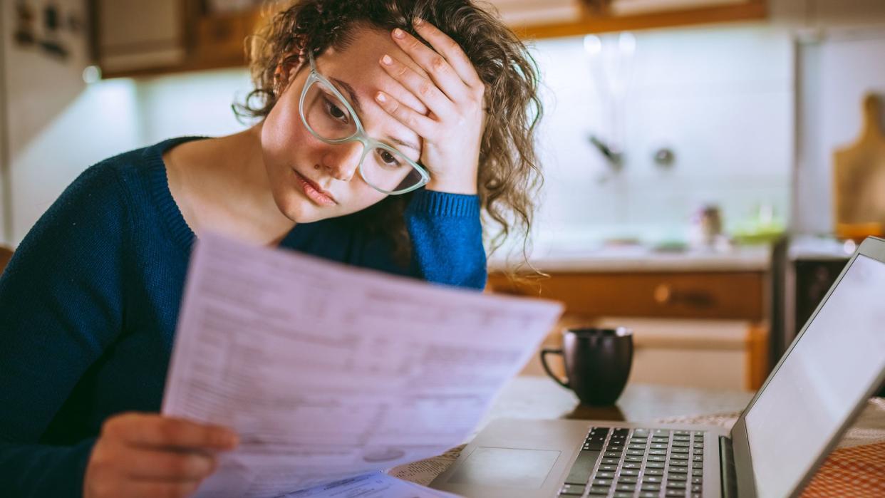
<path fill-rule="evenodd" d="M 885 264 L 858 255 L 746 413 L 758 495 L 787 496 L 885 368 Z"/>

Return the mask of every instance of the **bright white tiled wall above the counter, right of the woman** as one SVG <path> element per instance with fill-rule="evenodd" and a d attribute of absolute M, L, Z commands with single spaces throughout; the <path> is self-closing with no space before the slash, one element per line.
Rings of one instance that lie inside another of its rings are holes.
<path fill-rule="evenodd" d="M 616 43 L 604 38 L 603 45 Z M 535 53 L 546 88 L 541 237 L 672 238 L 704 202 L 719 203 L 727 225 L 759 203 L 789 216 L 795 92 L 786 30 L 742 25 L 635 34 L 620 130 L 626 162 L 617 174 L 588 143 L 590 133 L 617 137 L 619 130 L 612 130 L 611 106 L 597 91 L 582 39 L 538 42 Z M 670 168 L 652 161 L 664 146 L 675 151 Z"/>

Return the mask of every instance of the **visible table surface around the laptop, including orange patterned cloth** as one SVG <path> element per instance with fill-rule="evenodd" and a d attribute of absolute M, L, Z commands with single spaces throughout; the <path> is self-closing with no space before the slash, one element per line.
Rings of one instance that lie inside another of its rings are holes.
<path fill-rule="evenodd" d="M 582 406 L 571 391 L 547 377 L 512 379 L 476 429 L 495 418 L 612 420 L 700 423 L 730 427 L 753 397 L 746 391 L 629 384 L 613 407 Z M 475 435 L 475 433 L 473 433 Z M 471 438 L 473 438 L 473 435 Z M 427 486 L 457 458 L 452 448 L 389 473 Z M 805 488 L 803 498 L 885 495 L 885 399 L 874 398 Z"/>

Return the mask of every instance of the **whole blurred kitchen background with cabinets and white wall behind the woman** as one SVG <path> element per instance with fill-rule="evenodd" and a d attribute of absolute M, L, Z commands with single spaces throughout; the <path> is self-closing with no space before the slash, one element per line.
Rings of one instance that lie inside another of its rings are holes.
<path fill-rule="evenodd" d="M 864 96 L 885 96 L 885 2 L 585 3 L 610 7 L 596 23 L 578 0 L 493 2 L 544 36 L 532 42 L 545 102 L 533 253 L 552 275 L 543 293 L 576 323 L 633 326 L 634 381 L 758 387 L 844 262 L 832 155 L 861 133 Z M 219 34 L 236 52 L 254 4 L 4 1 L 0 242 L 17 245 L 104 157 L 242 129 L 230 104 L 250 89 L 245 67 L 194 41 L 239 22 Z M 566 278 L 583 290 L 557 287 Z M 605 302 L 600 285 L 627 307 L 589 304 Z M 693 366 L 662 374 L 671 361 Z"/>

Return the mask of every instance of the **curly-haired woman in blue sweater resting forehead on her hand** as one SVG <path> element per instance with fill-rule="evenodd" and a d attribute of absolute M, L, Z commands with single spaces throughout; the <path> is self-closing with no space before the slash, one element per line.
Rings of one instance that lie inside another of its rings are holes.
<path fill-rule="evenodd" d="M 469 0 L 302 0 L 252 56 L 255 126 L 90 167 L 0 279 L 7 495 L 186 496 L 235 447 L 158 415 L 201 234 L 479 289 L 481 210 L 527 231 L 535 65 Z"/>

